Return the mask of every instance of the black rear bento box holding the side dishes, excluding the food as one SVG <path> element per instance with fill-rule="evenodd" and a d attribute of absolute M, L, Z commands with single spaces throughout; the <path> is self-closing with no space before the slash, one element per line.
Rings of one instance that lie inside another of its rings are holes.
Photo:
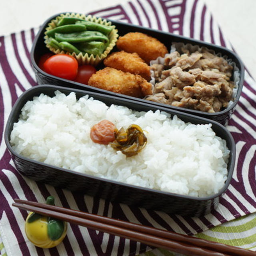
<path fill-rule="evenodd" d="M 115 25 L 116 28 L 118 29 L 118 34 L 120 36 L 122 36 L 128 32 L 142 32 L 142 33 L 148 34 L 148 35 L 153 36 L 153 37 L 157 38 L 158 40 L 160 40 L 162 43 L 165 44 L 165 46 L 167 47 L 168 50 L 170 50 L 171 45 L 174 42 L 177 42 L 177 43 L 182 42 L 184 44 L 198 45 L 200 47 L 204 46 L 210 50 L 214 50 L 214 52 L 216 54 L 221 54 L 221 56 L 226 56 L 228 59 L 231 59 L 236 64 L 240 78 L 239 78 L 239 82 L 238 82 L 236 98 L 234 99 L 234 102 L 232 104 L 230 104 L 230 106 L 228 106 L 228 108 L 226 108 L 220 112 L 208 113 L 208 112 L 202 112 L 199 110 L 192 110 L 192 109 L 188 109 L 188 108 L 180 108 L 180 107 L 176 107 L 176 106 L 170 106 L 167 104 L 161 104 L 161 103 L 156 103 L 156 102 L 152 102 L 152 101 L 148 101 L 148 100 L 144 100 L 144 99 L 140 99 L 140 98 L 126 96 L 123 94 L 117 94 L 117 93 L 110 92 L 107 90 L 102 90 L 100 88 L 88 86 L 86 84 L 80 84 L 78 82 L 73 82 L 70 80 L 58 78 L 56 76 L 52 76 L 52 75 L 47 74 L 46 72 L 42 71 L 38 67 L 38 61 L 39 61 L 40 56 L 42 56 L 42 54 L 44 54 L 48 51 L 48 48 L 46 48 L 46 45 L 44 43 L 44 32 L 45 32 L 46 27 L 48 26 L 48 23 L 59 15 L 60 14 L 56 14 L 56 15 L 48 18 L 48 20 L 46 20 L 44 22 L 44 24 L 41 26 L 41 28 L 33 42 L 32 51 L 31 51 L 31 61 L 32 61 L 32 67 L 36 74 L 36 80 L 37 80 L 38 84 L 55 84 L 55 85 L 59 85 L 59 86 L 68 86 L 70 88 L 75 88 L 75 89 L 95 91 L 95 92 L 99 92 L 102 94 L 109 94 L 112 96 L 122 97 L 125 99 L 137 100 L 139 102 L 145 102 L 147 104 L 154 104 L 158 107 L 166 107 L 166 108 L 170 108 L 172 110 L 179 110 L 179 111 L 186 112 L 189 114 L 194 114 L 196 116 L 202 116 L 202 117 L 209 118 L 211 120 L 220 122 L 221 124 L 224 124 L 224 125 L 226 125 L 228 123 L 228 120 L 230 119 L 230 116 L 234 112 L 236 104 L 238 103 L 238 100 L 239 100 L 239 97 L 240 97 L 240 94 L 242 91 L 243 82 L 244 82 L 244 66 L 243 66 L 240 58 L 234 52 L 228 50 L 227 48 L 224 48 L 221 46 L 216 46 L 214 44 L 209 44 L 209 43 L 202 42 L 199 40 L 194 40 L 192 38 L 186 38 L 184 36 L 179 36 L 179 35 L 172 34 L 172 33 L 162 32 L 159 30 L 153 30 L 150 28 L 142 27 L 142 26 L 135 26 L 135 25 L 131 25 L 131 24 L 123 23 L 123 22 L 110 20 L 112 22 L 112 24 Z M 116 50 L 117 50 L 117 48 L 114 47 L 112 52 L 114 52 Z M 102 67 L 98 67 L 98 68 L 100 69 Z M 234 74 L 233 74 L 233 76 L 234 76 Z"/>

